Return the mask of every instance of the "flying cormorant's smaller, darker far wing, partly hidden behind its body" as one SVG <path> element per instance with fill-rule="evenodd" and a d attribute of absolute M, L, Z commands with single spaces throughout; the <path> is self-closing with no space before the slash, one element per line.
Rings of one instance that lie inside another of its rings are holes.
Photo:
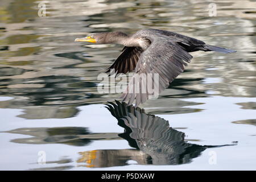
<path fill-rule="evenodd" d="M 114 69 L 117 74 L 133 72 L 142 52 L 143 50 L 140 47 L 124 47 L 106 73 L 110 72 L 110 69 Z"/>

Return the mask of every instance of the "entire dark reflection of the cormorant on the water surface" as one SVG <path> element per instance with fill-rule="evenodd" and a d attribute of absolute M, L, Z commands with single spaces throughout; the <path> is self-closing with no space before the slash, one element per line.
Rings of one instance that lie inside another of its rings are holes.
<path fill-rule="evenodd" d="M 170 127 L 169 122 L 143 109 L 127 106 L 125 102 L 109 102 L 106 108 L 117 118 L 124 133 L 119 137 L 126 139 L 135 149 L 93 150 L 79 152 L 77 163 L 85 167 L 125 166 L 129 160 L 138 164 L 185 164 L 200 156 L 207 148 L 229 146 L 200 146 L 184 140 L 184 133 Z"/>

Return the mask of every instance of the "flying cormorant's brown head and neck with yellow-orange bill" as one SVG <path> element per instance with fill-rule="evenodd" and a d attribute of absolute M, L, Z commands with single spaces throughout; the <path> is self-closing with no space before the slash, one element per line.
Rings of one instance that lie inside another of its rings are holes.
<path fill-rule="evenodd" d="M 118 40 L 127 37 L 123 32 L 100 32 L 86 36 L 85 38 L 77 38 L 75 42 L 90 42 L 98 44 L 118 43 Z"/>

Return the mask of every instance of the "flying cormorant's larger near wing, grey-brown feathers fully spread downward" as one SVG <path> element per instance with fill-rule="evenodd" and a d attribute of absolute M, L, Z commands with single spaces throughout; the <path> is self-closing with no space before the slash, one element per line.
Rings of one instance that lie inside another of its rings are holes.
<path fill-rule="evenodd" d="M 192 59 L 192 56 L 174 39 L 168 39 L 167 36 L 146 36 L 145 38 L 149 39 L 151 44 L 141 53 L 135 68 L 136 74 L 122 95 L 123 101 L 129 101 L 128 105 L 136 100 L 135 106 L 138 106 L 145 102 L 148 96 L 155 96 L 162 92 L 184 71 L 184 65 Z M 155 80 L 157 77 L 158 80 Z M 154 93 L 148 92 L 149 82 L 151 82 L 150 85 L 156 86 L 153 89 Z"/>

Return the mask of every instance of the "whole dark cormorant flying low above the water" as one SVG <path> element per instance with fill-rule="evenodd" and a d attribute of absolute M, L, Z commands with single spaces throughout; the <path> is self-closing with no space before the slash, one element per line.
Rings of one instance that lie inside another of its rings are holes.
<path fill-rule="evenodd" d="M 160 93 L 184 71 L 184 65 L 187 65 L 192 59 L 189 52 L 236 52 L 231 49 L 210 46 L 201 40 L 175 32 L 151 28 L 139 30 L 131 36 L 123 32 L 102 32 L 75 41 L 101 44 L 115 43 L 125 46 L 107 72 L 114 69 L 116 74 L 137 73 L 137 76 L 134 76 L 132 81 L 129 82 L 126 93 L 122 96 L 123 101 L 129 101 L 129 105 L 136 100 L 136 106 L 145 102 L 153 94 L 149 93 L 147 89 L 145 92 L 141 92 L 141 90 L 147 88 L 148 80 L 145 77 L 139 78 L 139 76 L 143 74 L 150 75 L 149 73 L 151 73 L 149 81 L 151 81 L 151 85 L 158 87 L 157 92 Z M 158 80 L 154 80 L 154 77 L 152 77 L 154 74 L 158 75 Z M 132 89 L 129 90 L 129 88 Z M 136 88 L 139 92 L 135 92 Z"/>

